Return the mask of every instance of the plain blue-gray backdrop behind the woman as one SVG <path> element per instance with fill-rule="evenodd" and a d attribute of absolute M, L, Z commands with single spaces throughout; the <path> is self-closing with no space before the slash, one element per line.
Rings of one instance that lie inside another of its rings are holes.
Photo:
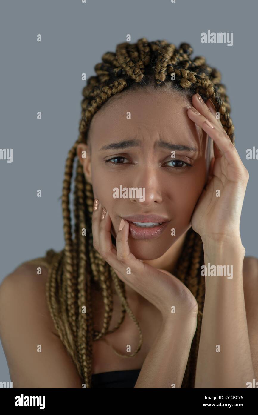
<path fill-rule="evenodd" d="M 65 159 L 78 137 L 81 91 L 106 51 L 131 35 L 183 41 L 222 73 L 231 102 L 236 148 L 250 179 L 241 239 L 257 256 L 257 168 L 246 149 L 257 146 L 257 2 L 236 0 L 31 0 L 0 5 L 0 281 L 46 249 L 62 249 Z M 233 46 L 202 44 L 201 32 L 233 32 Z M 37 34 L 42 42 L 36 41 Z M 42 112 L 42 120 L 36 113 Z M 42 197 L 36 197 L 36 190 Z M 0 347 L 0 381 L 10 381 Z"/>

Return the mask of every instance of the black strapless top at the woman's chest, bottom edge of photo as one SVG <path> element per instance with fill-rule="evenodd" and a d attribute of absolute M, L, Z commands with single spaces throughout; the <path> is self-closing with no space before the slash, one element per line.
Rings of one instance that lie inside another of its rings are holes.
<path fill-rule="evenodd" d="M 141 369 L 115 370 L 92 375 L 92 388 L 134 388 Z"/>

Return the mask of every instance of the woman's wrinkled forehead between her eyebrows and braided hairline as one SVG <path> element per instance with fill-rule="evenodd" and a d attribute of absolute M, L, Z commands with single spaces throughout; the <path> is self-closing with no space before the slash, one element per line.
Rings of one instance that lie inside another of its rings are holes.
<path fill-rule="evenodd" d="M 89 128 L 91 146 L 103 140 L 137 135 L 139 139 L 158 136 L 201 145 L 203 130 L 187 115 L 191 100 L 173 90 L 139 88 L 109 98 L 96 112 Z"/>

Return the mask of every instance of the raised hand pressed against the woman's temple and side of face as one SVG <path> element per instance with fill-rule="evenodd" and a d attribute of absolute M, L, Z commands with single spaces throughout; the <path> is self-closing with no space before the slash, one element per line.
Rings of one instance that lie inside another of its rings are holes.
<path fill-rule="evenodd" d="M 224 239 L 240 239 L 239 224 L 249 179 L 248 171 L 222 123 L 215 118 L 212 103 L 209 100 L 202 103 L 195 94 L 192 105 L 200 115 L 189 108 L 188 117 L 213 140 L 214 158 L 211 161 L 212 175 L 208 177 L 207 185 L 195 206 L 191 226 L 202 240 L 219 242 Z M 206 120 L 213 128 L 207 125 Z"/>

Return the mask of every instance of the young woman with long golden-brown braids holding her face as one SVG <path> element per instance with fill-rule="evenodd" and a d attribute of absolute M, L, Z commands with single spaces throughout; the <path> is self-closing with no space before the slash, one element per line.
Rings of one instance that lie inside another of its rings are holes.
<path fill-rule="evenodd" d="M 65 247 L 0 288 L 14 387 L 258 379 L 258 261 L 239 232 L 249 176 L 221 75 L 192 52 L 125 42 L 88 79 L 65 165 Z"/>

